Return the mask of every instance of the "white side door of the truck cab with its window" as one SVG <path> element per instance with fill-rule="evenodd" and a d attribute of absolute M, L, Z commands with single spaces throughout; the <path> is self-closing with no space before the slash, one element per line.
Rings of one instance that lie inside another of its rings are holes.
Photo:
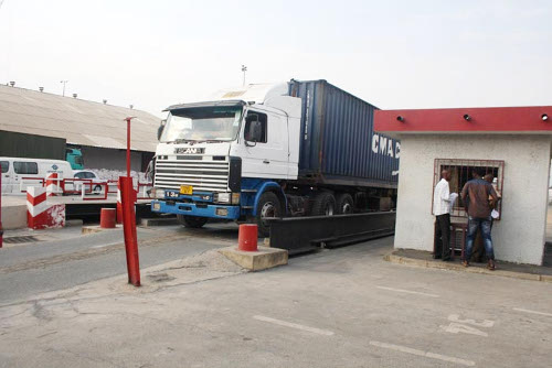
<path fill-rule="evenodd" d="M 244 177 L 287 178 L 287 118 L 268 111 L 250 110 L 244 127 Z"/>

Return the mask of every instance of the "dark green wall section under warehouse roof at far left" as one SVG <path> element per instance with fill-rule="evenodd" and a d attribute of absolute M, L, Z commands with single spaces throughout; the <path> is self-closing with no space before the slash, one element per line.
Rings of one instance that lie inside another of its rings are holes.
<path fill-rule="evenodd" d="M 65 160 L 65 139 L 0 130 L 0 156 Z"/>

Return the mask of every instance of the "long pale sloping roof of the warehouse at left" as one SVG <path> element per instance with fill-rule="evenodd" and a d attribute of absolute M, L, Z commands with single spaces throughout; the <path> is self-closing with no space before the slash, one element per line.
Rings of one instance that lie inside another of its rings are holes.
<path fill-rule="evenodd" d="M 155 152 L 160 119 L 149 112 L 36 90 L 0 86 L 0 130 L 64 138 L 70 144 Z"/>

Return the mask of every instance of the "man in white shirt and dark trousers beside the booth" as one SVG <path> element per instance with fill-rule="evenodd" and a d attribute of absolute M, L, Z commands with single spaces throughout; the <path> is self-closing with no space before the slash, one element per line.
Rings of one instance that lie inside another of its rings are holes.
<path fill-rule="evenodd" d="M 433 192 L 433 214 L 435 215 L 435 239 L 433 258 L 450 260 L 450 173 L 440 172 L 440 181 Z"/>

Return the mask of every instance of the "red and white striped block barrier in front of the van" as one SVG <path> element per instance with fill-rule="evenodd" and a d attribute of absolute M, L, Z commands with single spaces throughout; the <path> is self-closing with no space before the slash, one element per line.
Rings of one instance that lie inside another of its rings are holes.
<path fill-rule="evenodd" d="M 26 188 L 26 224 L 31 229 L 65 226 L 65 205 L 53 205 L 46 201 L 46 188 Z"/>

